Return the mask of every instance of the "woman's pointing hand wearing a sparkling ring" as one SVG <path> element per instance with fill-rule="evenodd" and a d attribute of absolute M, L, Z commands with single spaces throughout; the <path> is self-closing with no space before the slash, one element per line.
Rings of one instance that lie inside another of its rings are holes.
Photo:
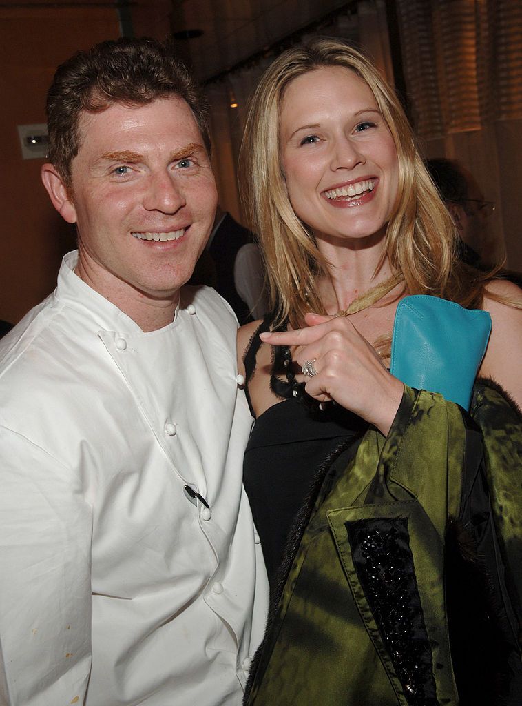
<path fill-rule="evenodd" d="M 390 375 L 348 318 L 310 313 L 305 322 L 308 328 L 260 336 L 269 345 L 294 346 L 293 359 L 301 367 L 314 361 L 317 375 L 307 377 L 305 385 L 311 397 L 335 400 L 386 436 L 401 403 L 403 383 Z"/>

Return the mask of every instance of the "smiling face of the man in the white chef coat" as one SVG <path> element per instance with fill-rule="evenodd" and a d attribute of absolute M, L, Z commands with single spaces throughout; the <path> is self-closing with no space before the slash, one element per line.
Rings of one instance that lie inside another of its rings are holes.
<path fill-rule="evenodd" d="M 72 189 L 60 208 L 55 202 L 78 227 L 78 275 L 124 311 L 128 297 L 175 300 L 217 203 L 188 104 L 178 97 L 114 104 L 82 114 L 79 133 Z"/>

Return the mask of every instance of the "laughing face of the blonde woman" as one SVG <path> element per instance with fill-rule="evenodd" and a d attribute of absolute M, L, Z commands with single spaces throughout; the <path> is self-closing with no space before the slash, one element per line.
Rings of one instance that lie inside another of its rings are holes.
<path fill-rule="evenodd" d="M 284 93 L 279 129 L 293 210 L 318 244 L 382 238 L 399 164 L 368 85 L 341 66 L 305 73 Z"/>

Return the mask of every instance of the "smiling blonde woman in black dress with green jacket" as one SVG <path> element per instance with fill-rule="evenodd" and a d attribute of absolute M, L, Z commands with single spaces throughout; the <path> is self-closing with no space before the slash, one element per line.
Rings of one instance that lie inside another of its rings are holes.
<path fill-rule="evenodd" d="M 494 525 L 477 481 L 486 470 L 473 422 L 442 397 L 405 387 L 387 365 L 406 294 L 482 307 L 492 334 L 480 375 L 520 403 L 522 313 L 509 304 L 521 292 L 500 281 L 486 289 L 480 275 L 456 264 L 454 225 L 399 102 L 342 42 L 317 40 L 274 61 L 253 96 L 243 155 L 273 309 L 238 336 L 257 420 L 245 488 L 273 589 L 248 702 L 454 703 L 458 667 L 461 703 L 477 695 L 494 703 L 497 693 L 515 703 L 518 517 L 497 539 L 502 492 L 494 496 Z M 484 433 L 492 418 L 511 425 L 514 447 L 502 453 L 518 458 L 518 410 L 487 387 L 475 390 L 474 407 Z M 511 491 L 502 496 L 511 509 L 522 501 L 520 484 L 491 461 L 502 453 L 490 436 L 490 465 L 501 490 Z M 450 516 L 461 520 L 459 534 L 469 525 L 475 549 L 487 549 L 480 569 L 493 577 L 489 585 L 459 551 L 454 571 L 444 570 Z M 478 546 L 486 535 L 490 544 Z M 502 561 L 494 559 L 497 544 Z M 492 625 L 480 623 L 480 649 L 456 627 L 471 599 L 452 590 L 450 573 L 456 585 L 463 577 L 480 584 L 480 619 L 496 611 Z M 502 598 L 494 610 L 482 608 L 490 593 Z M 482 669 L 488 659 L 499 664 Z M 470 674 L 481 678 L 466 690 Z"/>

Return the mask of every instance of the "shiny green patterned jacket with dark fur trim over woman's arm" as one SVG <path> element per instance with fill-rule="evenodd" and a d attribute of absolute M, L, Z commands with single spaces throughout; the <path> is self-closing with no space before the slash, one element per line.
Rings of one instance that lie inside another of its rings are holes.
<path fill-rule="evenodd" d="M 245 704 L 522 704 L 521 455 L 494 385 L 471 417 L 405 387 L 322 473 Z"/>

